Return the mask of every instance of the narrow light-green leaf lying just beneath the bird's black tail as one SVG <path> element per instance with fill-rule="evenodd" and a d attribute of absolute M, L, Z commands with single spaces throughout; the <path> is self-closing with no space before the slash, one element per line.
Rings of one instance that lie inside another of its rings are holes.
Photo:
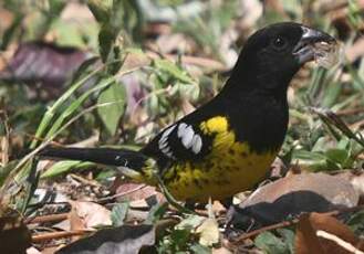
<path fill-rule="evenodd" d="M 82 162 L 77 160 L 63 160 L 54 163 L 50 169 L 41 174 L 41 178 L 54 178 L 62 173 L 70 172 L 71 170 L 87 169 L 95 163 L 93 162 Z"/>

